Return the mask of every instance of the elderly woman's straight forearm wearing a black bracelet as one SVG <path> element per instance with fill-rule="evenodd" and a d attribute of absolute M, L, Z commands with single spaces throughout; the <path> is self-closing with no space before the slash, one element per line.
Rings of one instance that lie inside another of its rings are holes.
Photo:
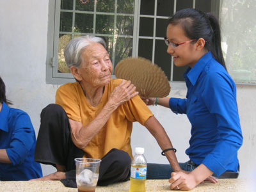
<path fill-rule="evenodd" d="M 166 148 L 172 148 L 172 142 L 168 138 L 166 132 L 164 131 L 163 126 L 158 122 L 158 120 L 154 116 L 150 116 L 148 120 L 145 122 L 145 127 L 147 127 L 148 131 L 156 138 L 157 143 L 161 147 L 162 150 Z M 180 169 L 179 163 L 177 161 L 177 157 L 175 156 L 175 152 L 173 150 L 168 150 L 164 152 L 168 161 L 170 162 L 174 172 L 182 171 Z"/>

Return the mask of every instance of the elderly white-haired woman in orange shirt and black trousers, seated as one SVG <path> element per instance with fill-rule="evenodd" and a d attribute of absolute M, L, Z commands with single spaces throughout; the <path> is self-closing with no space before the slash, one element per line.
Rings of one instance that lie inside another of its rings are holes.
<path fill-rule="evenodd" d="M 69 179 L 75 178 L 74 158 L 83 156 L 102 159 L 99 185 L 128 180 L 132 122 L 136 121 L 147 127 L 162 150 L 172 148 L 135 86 L 111 79 L 113 67 L 102 38 L 72 39 L 65 48 L 65 60 L 77 82 L 60 86 L 56 104 L 41 113 L 35 160 L 57 169 L 41 179 L 61 180 L 70 186 Z M 172 168 L 180 171 L 174 151 L 165 154 Z"/>

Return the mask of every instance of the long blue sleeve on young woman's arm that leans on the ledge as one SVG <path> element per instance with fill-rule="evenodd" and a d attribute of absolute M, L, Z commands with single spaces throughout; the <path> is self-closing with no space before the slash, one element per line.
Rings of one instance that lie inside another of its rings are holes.
<path fill-rule="evenodd" d="M 202 98 L 217 121 L 218 143 L 202 162 L 217 176 L 227 170 L 230 160 L 243 143 L 237 111 L 236 84 L 225 72 L 212 73 L 205 78 Z"/>

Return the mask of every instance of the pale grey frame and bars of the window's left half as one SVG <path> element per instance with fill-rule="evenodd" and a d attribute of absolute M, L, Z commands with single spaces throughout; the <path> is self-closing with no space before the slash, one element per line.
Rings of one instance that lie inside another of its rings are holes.
<path fill-rule="evenodd" d="M 73 1 L 73 8 L 75 8 L 75 3 L 76 1 Z M 134 15 L 133 14 L 128 14 L 128 13 L 116 13 L 116 7 L 115 7 L 115 22 L 116 22 L 116 17 L 118 15 L 125 15 L 125 16 L 133 16 L 134 17 L 134 22 L 137 19 L 138 15 L 136 13 L 138 12 L 138 3 L 140 1 L 135 0 L 134 1 Z M 72 76 L 72 74 L 67 74 L 67 73 L 58 73 L 58 44 L 59 44 L 59 35 L 60 33 L 60 12 L 61 12 L 61 0 L 54 0 L 54 1 L 49 1 L 49 23 L 48 23 L 48 36 L 47 36 L 47 60 L 46 60 L 46 83 L 51 83 L 51 84 L 65 84 L 68 82 L 74 82 L 75 79 Z M 73 18 L 74 14 L 79 12 L 74 10 L 67 10 L 67 12 L 72 12 L 73 13 Z M 97 14 L 99 12 L 96 12 L 95 8 L 93 10 L 93 14 Z M 102 14 L 102 13 L 100 13 Z M 113 15 L 113 13 L 103 13 L 102 15 Z M 95 18 L 95 17 L 94 17 Z M 72 20 L 74 22 L 74 19 Z M 74 23 L 73 23 L 74 24 Z M 96 34 L 95 33 L 95 20 L 93 21 L 93 34 L 92 35 L 97 35 L 97 36 L 113 36 L 114 40 L 117 38 L 114 35 L 104 35 L 104 34 Z M 69 32 L 70 35 L 76 35 L 72 29 L 72 32 Z M 133 28 L 133 35 L 118 35 L 118 37 L 127 37 L 129 36 L 130 38 L 132 37 L 132 47 L 138 47 L 136 44 L 136 35 L 137 35 L 137 28 Z M 68 34 L 68 33 L 65 33 Z M 78 35 L 85 35 L 86 33 L 77 33 Z M 136 49 L 132 49 L 132 56 L 136 54 Z M 55 56 L 54 56 L 55 55 Z M 115 50 L 113 51 L 113 55 L 111 56 L 112 61 L 114 63 L 115 61 Z M 115 76 L 112 76 L 115 78 Z"/>

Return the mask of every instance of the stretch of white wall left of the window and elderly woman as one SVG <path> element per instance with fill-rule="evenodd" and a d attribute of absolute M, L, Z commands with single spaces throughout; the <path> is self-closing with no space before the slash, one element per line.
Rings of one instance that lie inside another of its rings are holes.
<path fill-rule="evenodd" d="M 0 1 L 0 18 L 0 76 L 6 96 L 13 108 L 29 114 L 37 134 L 40 112 L 54 102 L 57 89 L 45 83 L 48 1 Z"/>

